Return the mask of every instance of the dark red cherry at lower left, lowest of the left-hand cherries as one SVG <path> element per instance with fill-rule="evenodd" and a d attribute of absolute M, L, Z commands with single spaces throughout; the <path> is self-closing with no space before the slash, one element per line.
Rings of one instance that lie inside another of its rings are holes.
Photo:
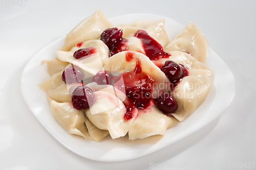
<path fill-rule="evenodd" d="M 77 110 L 88 109 L 95 103 L 93 90 L 87 86 L 78 86 L 72 93 L 72 104 Z"/>

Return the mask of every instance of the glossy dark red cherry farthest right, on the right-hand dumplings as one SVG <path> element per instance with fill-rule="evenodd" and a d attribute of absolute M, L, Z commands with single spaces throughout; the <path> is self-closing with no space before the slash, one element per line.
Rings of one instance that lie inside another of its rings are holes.
<path fill-rule="evenodd" d="M 178 80 L 183 75 L 182 67 L 172 60 L 165 61 L 164 65 L 161 66 L 161 70 L 170 81 Z"/>

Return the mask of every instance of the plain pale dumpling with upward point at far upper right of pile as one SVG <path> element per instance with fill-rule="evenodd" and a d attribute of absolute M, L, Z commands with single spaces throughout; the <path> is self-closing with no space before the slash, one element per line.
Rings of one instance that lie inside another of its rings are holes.
<path fill-rule="evenodd" d="M 208 55 L 208 42 L 195 23 L 190 22 L 182 33 L 164 47 L 164 51 L 182 51 L 204 63 Z"/>

